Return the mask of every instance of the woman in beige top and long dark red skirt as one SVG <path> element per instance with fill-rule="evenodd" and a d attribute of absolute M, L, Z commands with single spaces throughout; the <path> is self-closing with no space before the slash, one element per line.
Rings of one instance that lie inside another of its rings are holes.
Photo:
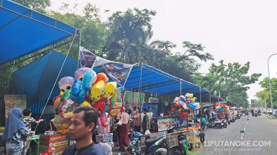
<path fill-rule="evenodd" d="M 118 140 L 119 140 L 119 146 L 122 151 L 125 151 L 125 147 L 128 147 L 129 143 L 129 137 L 128 137 L 128 123 L 129 123 L 129 115 L 125 112 L 125 108 L 123 107 L 122 114 L 119 113 L 116 116 L 116 122 L 119 121 L 119 119 L 122 118 L 122 125 L 117 127 L 118 131 Z"/>

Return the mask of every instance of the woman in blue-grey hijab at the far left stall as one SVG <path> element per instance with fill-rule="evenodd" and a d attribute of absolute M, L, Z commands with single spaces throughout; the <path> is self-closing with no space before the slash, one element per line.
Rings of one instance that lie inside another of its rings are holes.
<path fill-rule="evenodd" d="M 30 134 L 21 117 L 21 109 L 13 108 L 10 111 L 2 139 L 7 139 L 6 149 L 9 155 L 21 155 L 25 138 Z"/>

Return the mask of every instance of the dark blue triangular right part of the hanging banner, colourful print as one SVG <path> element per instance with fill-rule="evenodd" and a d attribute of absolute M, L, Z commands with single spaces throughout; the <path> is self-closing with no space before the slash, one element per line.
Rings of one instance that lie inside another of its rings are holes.
<path fill-rule="evenodd" d="M 133 65 L 111 62 L 103 65 L 106 73 L 122 87 L 125 85 Z"/>

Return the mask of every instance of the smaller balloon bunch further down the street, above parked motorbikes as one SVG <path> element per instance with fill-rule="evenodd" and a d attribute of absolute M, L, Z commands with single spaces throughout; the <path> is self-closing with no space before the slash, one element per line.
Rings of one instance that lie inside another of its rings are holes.
<path fill-rule="evenodd" d="M 186 119 L 187 113 L 194 113 L 196 117 L 201 106 L 199 103 L 196 103 L 195 100 L 197 100 L 197 98 L 189 93 L 185 96 L 181 95 L 175 97 L 173 100 L 175 108 L 171 109 L 171 112 L 177 112 L 177 116 L 181 116 L 182 119 Z"/>

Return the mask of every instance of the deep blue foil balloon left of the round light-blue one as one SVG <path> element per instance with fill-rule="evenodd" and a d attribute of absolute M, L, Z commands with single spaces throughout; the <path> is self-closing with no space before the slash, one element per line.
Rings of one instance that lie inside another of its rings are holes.
<path fill-rule="evenodd" d="M 81 80 L 75 80 L 72 85 L 71 95 L 73 95 L 74 99 L 79 103 L 82 103 L 86 97 L 86 89 L 83 87 Z"/>

